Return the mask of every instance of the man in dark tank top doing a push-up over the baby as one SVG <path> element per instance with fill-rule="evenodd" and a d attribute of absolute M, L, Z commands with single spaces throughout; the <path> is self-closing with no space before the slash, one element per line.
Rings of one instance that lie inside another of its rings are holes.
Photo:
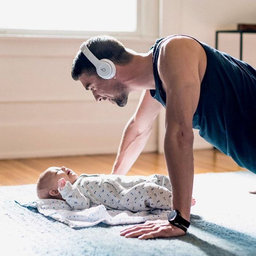
<path fill-rule="evenodd" d="M 193 188 L 192 128 L 256 173 L 256 69 L 186 35 L 158 39 L 145 54 L 124 48 L 112 37 L 91 38 L 85 45 L 99 60 L 109 59 L 116 67 L 113 78 L 100 78 L 93 60 L 84 55 L 86 50 L 77 53 L 72 78 L 91 90 L 97 102 L 125 106 L 131 91 L 143 90 L 125 126 L 113 174 L 128 172 L 146 144 L 154 119 L 162 106 L 166 108 L 164 152 L 174 220 L 146 222 L 121 235 L 140 239 L 184 235 Z"/>

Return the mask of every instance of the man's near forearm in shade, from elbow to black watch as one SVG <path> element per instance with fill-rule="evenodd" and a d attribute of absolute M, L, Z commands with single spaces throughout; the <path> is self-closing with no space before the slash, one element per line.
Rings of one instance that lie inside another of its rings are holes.
<path fill-rule="evenodd" d="M 172 206 L 187 220 L 190 217 L 193 189 L 193 138 L 165 138 L 165 159 L 172 184 Z"/>

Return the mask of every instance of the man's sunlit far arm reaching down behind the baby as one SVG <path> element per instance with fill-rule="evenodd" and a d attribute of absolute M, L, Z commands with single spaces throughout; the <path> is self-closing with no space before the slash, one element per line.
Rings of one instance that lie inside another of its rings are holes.
<path fill-rule="evenodd" d="M 153 121 L 161 108 L 162 105 L 151 97 L 149 90 L 144 90 L 135 113 L 125 125 L 112 174 L 126 174 L 129 171 L 145 147 Z"/>

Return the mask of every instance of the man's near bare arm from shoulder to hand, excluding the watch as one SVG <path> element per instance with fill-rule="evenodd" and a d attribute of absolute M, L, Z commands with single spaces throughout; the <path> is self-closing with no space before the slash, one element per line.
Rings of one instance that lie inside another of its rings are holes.
<path fill-rule="evenodd" d="M 193 39 L 191 39 L 193 40 Z M 159 75 L 166 88 L 166 133 L 164 151 L 172 184 L 172 208 L 189 220 L 193 188 L 192 119 L 200 95 L 200 45 L 188 38 L 176 37 L 162 46 Z M 125 237 L 140 239 L 175 237 L 185 232 L 168 221 L 146 222 L 123 230 Z"/>

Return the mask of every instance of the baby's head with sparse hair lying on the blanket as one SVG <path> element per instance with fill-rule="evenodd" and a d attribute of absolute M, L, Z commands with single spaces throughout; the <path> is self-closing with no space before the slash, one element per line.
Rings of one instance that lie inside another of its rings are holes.
<path fill-rule="evenodd" d="M 65 178 L 73 184 L 78 175 L 72 170 L 62 167 L 49 167 L 42 172 L 37 181 L 37 196 L 39 199 L 62 199 L 58 190 L 58 181 L 60 178 Z"/>

